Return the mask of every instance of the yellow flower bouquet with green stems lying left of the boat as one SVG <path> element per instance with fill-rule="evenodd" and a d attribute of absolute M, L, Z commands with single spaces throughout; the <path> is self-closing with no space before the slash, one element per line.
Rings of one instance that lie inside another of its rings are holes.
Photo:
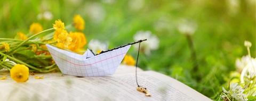
<path fill-rule="evenodd" d="M 65 24 L 56 20 L 51 29 L 43 31 L 40 23 L 32 23 L 28 34 L 18 32 L 14 39 L 1 38 L 0 69 L 9 70 L 12 79 L 17 82 L 27 81 L 29 72 L 50 72 L 58 69 L 45 44 L 73 52 L 83 51 L 87 44 L 85 34 L 80 32 L 85 26 L 83 18 L 75 15 L 73 21 L 73 32 L 68 32 Z M 54 33 L 45 33 L 52 30 L 55 30 Z M 39 35 L 42 37 L 38 38 Z"/>

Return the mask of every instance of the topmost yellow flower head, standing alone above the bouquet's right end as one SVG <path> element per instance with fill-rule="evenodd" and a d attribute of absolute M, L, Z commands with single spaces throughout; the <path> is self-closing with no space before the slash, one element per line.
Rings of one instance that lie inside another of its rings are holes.
<path fill-rule="evenodd" d="M 84 22 L 83 18 L 80 15 L 75 15 L 73 17 L 73 21 L 74 21 L 73 25 L 75 26 L 75 29 L 77 29 L 79 31 L 84 30 L 85 22 Z"/>

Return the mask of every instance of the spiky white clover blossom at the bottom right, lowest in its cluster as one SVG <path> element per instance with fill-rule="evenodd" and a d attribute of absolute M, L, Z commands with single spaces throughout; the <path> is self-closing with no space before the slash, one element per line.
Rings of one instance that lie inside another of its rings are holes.
<path fill-rule="evenodd" d="M 246 98 L 246 95 L 243 94 L 244 89 L 242 89 L 242 86 L 238 85 L 238 83 L 232 82 L 230 87 L 229 87 L 229 91 L 227 91 L 225 88 L 223 88 L 223 93 L 225 93 L 226 95 L 221 96 L 223 99 L 235 99 L 235 100 L 248 100 Z"/>

